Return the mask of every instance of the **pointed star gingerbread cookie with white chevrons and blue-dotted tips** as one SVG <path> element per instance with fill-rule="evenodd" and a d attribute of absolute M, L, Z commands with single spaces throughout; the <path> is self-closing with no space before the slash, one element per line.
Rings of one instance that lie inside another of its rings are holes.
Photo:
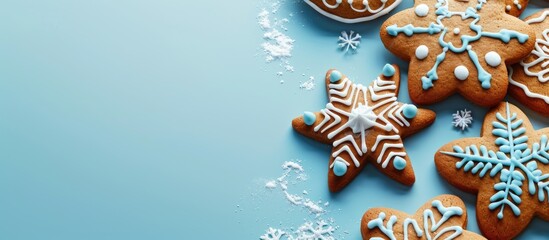
<path fill-rule="evenodd" d="M 415 181 L 402 138 L 431 125 L 435 113 L 397 101 L 400 72 L 385 65 L 370 86 L 355 84 L 337 70 L 326 74 L 330 102 L 320 112 L 305 112 L 293 128 L 312 139 L 331 144 L 328 185 L 339 191 L 373 163 L 405 185 Z"/>

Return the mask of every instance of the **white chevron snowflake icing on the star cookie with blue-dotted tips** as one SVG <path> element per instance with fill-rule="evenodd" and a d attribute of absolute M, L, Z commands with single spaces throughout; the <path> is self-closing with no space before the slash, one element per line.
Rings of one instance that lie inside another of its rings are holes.
<path fill-rule="evenodd" d="M 359 167 L 358 157 L 370 150 L 366 145 L 366 135 L 373 128 L 386 131 L 388 134 L 379 134 L 371 149 L 373 152 L 378 147 L 381 148 L 377 161 L 382 167 L 387 167 L 397 156 L 406 156 L 401 137 L 397 135 L 399 130 L 396 126 L 408 127 L 410 123 L 401 114 L 404 105 L 401 106 L 396 101 L 397 86 L 394 81 L 378 78 L 371 86 L 366 87 L 343 78 L 338 82 L 330 83 L 328 88 L 330 103 L 320 111 L 323 119 L 313 130 L 327 133 L 329 139 L 335 138 L 332 144 L 334 147 L 332 157 L 335 161 L 341 161 L 347 166 L 351 165 L 342 157 L 342 154 L 345 154 L 349 155 L 350 159 L 347 156 L 344 156 L 345 158 L 352 160 L 355 167 Z M 350 107 L 350 110 L 338 107 L 342 105 Z M 346 119 L 345 124 L 336 127 L 342 119 Z M 340 133 L 346 129 L 350 129 L 352 134 L 342 136 Z M 334 162 L 330 168 L 333 168 Z"/>

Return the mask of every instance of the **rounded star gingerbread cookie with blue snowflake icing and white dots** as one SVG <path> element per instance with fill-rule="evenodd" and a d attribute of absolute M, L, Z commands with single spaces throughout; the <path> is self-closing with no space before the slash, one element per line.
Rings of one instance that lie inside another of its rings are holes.
<path fill-rule="evenodd" d="M 534 48 L 533 28 L 505 13 L 503 0 L 417 0 L 389 18 L 381 40 L 410 61 L 413 102 L 433 104 L 454 93 L 494 106 L 507 93 L 506 64 Z"/>

